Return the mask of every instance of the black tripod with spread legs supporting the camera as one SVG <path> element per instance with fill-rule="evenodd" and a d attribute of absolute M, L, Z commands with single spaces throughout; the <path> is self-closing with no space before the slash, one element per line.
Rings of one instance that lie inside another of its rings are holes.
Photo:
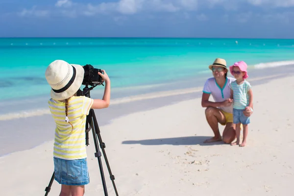
<path fill-rule="evenodd" d="M 79 90 L 79 92 L 77 93 L 77 96 L 83 96 L 84 95 L 84 96 L 90 98 L 90 90 L 92 90 L 96 86 L 93 86 L 91 88 L 88 88 L 88 85 L 86 85 L 85 88 L 83 89 L 83 92 L 81 92 Z M 90 127 L 89 127 L 89 125 L 90 125 Z M 103 152 L 103 156 L 104 156 L 104 159 L 105 159 L 105 162 L 106 162 L 106 166 L 107 166 L 107 169 L 108 169 L 108 172 L 109 172 L 109 175 L 110 175 L 110 179 L 112 181 L 112 184 L 113 184 L 113 187 L 114 187 L 116 196 L 119 196 L 119 194 L 117 192 L 117 189 L 116 189 L 116 186 L 115 186 L 115 183 L 114 183 L 115 177 L 114 177 L 114 175 L 112 174 L 112 172 L 110 170 L 108 159 L 107 159 L 107 156 L 106 156 L 106 153 L 105 153 L 105 149 L 104 148 L 106 146 L 102 142 L 102 139 L 101 139 L 100 129 L 99 129 L 99 126 L 98 126 L 98 123 L 97 123 L 97 119 L 96 119 L 96 115 L 95 115 L 94 109 L 90 109 L 89 115 L 87 116 L 87 123 L 86 123 L 86 130 L 85 130 L 85 132 L 86 132 L 86 145 L 87 146 L 89 145 L 89 131 L 91 129 L 92 129 L 92 132 L 93 132 L 93 139 L 94 139 L 94 144 L 95 144 L 95 148 L 96 148 L 95 157 L 97 157 L 97 159 L 98 159 L 98 165 L 99 165 L 99 169 L 100 169 L 100 174 L 101 174 L 101 180 L 102 180 L 104 195 L 105 196 L 108 196 L 108 193 L 107 193 L 107 188 L 106 188 L 106 183 L 105 183 L 105 178 L 104 178 L 104 172 L 103 172 L 103 168 L 102 168 L 101 152 L 99 151 L 98 141 L 99 141 L 101 150 Z M 48 187 L 46 187 L 46 189 L 45 189 L 45 191 L 46 191 L 45 196 L 48 196 L 48 193 L 50 192 L 50 189 L 51 189 L 51 185 L 53 183 L 53 180 L 54 180 L 54 172 L 52 174 L 52 177 L 50 179 L 50 182 L 49 182 Z"/>

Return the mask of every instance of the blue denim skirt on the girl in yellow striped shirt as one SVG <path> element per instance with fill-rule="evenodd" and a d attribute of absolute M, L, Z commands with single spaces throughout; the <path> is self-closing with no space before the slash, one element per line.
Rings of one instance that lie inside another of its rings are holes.
<path fill-rule="evenodd" d="M 86 185 L 90 183 L 87 159 L 65 160 L 53 157 L 54 179 L 59 184 Z"/>

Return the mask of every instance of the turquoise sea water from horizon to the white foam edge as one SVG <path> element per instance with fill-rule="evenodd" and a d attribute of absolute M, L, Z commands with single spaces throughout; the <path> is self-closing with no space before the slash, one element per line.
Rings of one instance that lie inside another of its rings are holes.
<path fill-rule="evenodd" d="M 45 70 L 56 59 L 104 69 L 119 98 L 201 78 L 218 57 L 228 66 L 244 60 L 259 69 L 294 64 L 294 40 L 0 38 L 0 114 L 46 106 L 50 87 Z M 103 87 L 96 89 L 102 97 Z"/>

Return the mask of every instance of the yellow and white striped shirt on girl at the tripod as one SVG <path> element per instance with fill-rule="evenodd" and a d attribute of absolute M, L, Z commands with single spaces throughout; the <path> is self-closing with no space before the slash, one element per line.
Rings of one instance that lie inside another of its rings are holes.
<path fill-rule="evenodd" d="M 73 131 L 72 125 L 65 121 L 65 103 L 50 98 L 48 104 L 56 123 L 53 156 L 67 160 L 86 158 L 86 117 L 93 99 L 85 96 L 70 98 L 68 118 Z"/>

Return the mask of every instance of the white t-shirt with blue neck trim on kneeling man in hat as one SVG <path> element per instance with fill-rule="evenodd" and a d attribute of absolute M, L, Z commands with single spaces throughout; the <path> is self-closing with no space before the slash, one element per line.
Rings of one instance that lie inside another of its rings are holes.
<path fill-rule="evenodd" d="M 235 78 L 227 77 L 223 88 L 217 84 L 214 77 L 208 78 L 203 87 L 203 93 L 211 94 L 215 102 L 224 101 L 231 96 L 230 84 L 235 81 Z M 224 112 L 233 113 L 233 104 L 228 107 L 219 107 Z"/>

